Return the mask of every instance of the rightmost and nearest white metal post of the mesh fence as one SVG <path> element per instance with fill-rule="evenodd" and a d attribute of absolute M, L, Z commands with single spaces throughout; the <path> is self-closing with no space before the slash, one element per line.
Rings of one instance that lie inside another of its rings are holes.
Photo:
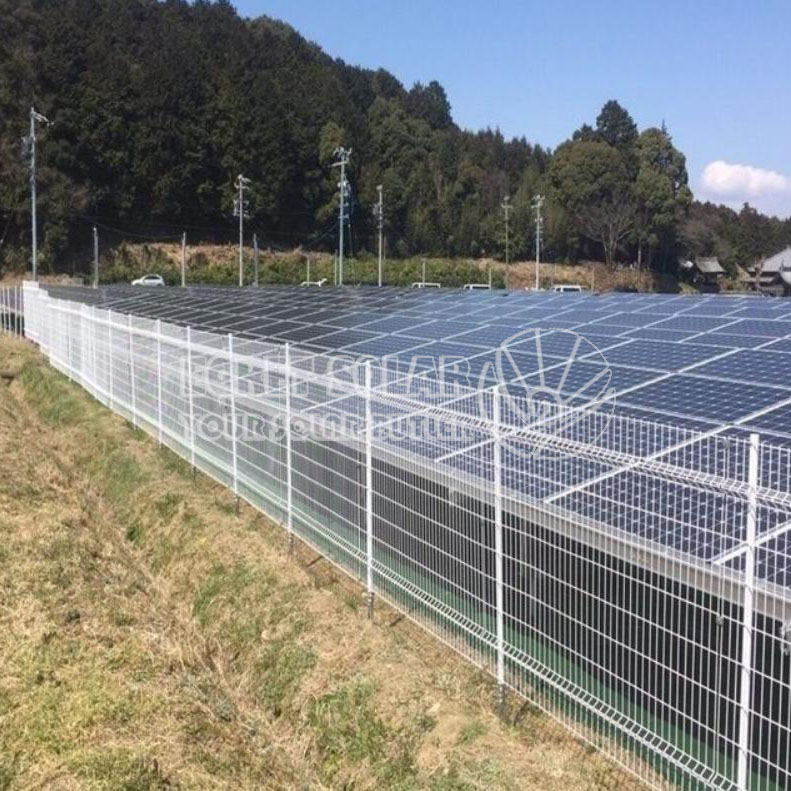
<path fill-rule="evenodd" d="M 758 434 L 750 434 L 747 465 L 747 531 L 744 553 L 744 600 L 742 605 L 742 668 L 739 682 L 739 755 L 736 787 L 747 791 L 750 782 L 752 738 L 753 608 L 755 599 L 755 537 L 758 522 Z"/>

